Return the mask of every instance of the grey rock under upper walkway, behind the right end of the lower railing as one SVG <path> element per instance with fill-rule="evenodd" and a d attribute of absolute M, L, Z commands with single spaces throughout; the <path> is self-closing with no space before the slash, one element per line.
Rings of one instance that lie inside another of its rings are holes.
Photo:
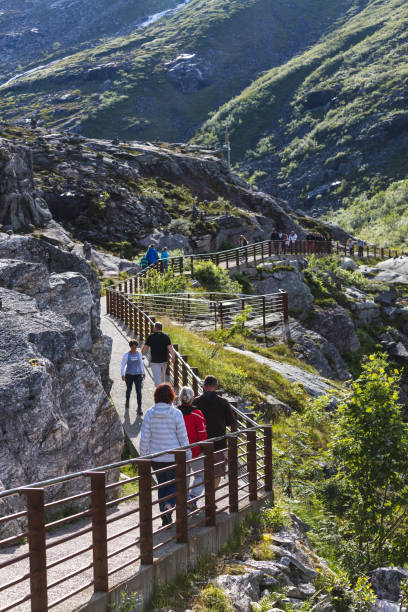
<path fill-rule="evenodd" d="M 312 293 L 298 272 L 278 270 L 268 274 L 265 280 L 255 281 L 254 285 L 260 294 L 277 293 L 279 289 L 287 291 L 290 308 L 296 311 L 296 316 L 300 319 L 313 308 Z"/>

